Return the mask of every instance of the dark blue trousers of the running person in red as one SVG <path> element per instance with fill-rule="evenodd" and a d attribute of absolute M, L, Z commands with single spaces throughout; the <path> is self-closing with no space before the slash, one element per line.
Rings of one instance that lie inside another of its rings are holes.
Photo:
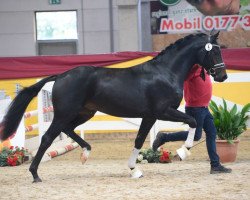
<path fill-rule="evenodd" d="M 198 141 L 202 136 L 202 129 L 206 133 L 207 152 L 210 158 L 212 167 L 220 164 L 219 156 L 216 153 L 216 128 L 213 122 L 213 116 L 207 107 L 186 107 L 186 114 L 195 118 L 197 128 L 195 131 L 194 140 Z M 180 131 L 175 133 L 164 134 L 163 140 L 165 142 L 185 141 L 188 136 L 188 131 Z"/>

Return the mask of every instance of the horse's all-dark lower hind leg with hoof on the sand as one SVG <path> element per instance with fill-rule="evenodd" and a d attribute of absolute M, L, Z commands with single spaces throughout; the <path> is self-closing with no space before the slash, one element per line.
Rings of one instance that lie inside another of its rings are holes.
<path fill-rule="evenodd" d="M 53 140 L 61 133 L 61 127 L 59 123 L 52 122 L 49 129 L 46 131 L 46 133 L 43 135 L 41 144 L 39 146 L 39 149 L 35 155 L 34 160 L 32 161 L 29 171 L 31 172 L 33 176 L 33 183 L 36 182 L 42 182 L 42 180 L 39 178 L 37 174 L 38 165 L 41 162 L 41 159 L 46 152 L 46 150 L 49 148 L 49 146 L 52 144 Z"/>

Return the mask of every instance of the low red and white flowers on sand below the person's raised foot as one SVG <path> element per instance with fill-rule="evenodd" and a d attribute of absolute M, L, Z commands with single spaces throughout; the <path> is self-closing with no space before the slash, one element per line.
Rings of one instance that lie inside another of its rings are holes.
<path fill-rule="evenodd" d="M 173 155 L 171 152 L 168 152 L 160 148 L 160 151 L 153 151 L 152 148 L 142 149 L 139 152 L 138 158 L 136 160 L 137 163 L 170 163 L 172 162 Z"/>

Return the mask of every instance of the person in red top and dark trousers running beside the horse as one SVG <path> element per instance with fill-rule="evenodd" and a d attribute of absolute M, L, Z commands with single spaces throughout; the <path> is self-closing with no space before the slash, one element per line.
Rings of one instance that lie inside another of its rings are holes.
<path fill-rule="evenodd" d="M 197 122 L 194 140 L 198 141 L 201 139 L 202 128 L 206 133 L 206 145 L 211 165 L 210 173 L 231 173 L 231 169 L 220 164 L 220 159 L 216 152 L 216 128 L 208 109 L 212 97 L 212 82 L 206 72 L 205 74 L 203 73 L 204 80 L 201 78 L 201 70 L 202 68 L 199 65 L 194 65 L 184 82 L 185 111 L 186 114 L 194 117 Z M 175 133 L 159 132 L 153 143 L 153 150 L 156 151 L 165 142 L 186 141 L 188 133 L 188 131 Z"/>

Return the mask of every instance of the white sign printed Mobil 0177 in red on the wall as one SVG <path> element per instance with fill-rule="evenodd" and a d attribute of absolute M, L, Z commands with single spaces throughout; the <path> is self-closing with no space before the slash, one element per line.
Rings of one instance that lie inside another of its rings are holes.
<path fill-rule="evenodd" d="M 151 3 L 152 34 L 232 31 L 237 26 L 250 30 L 250 14 L 204 16 L 186 1 L 165 7 L 158 2 Z"/>

